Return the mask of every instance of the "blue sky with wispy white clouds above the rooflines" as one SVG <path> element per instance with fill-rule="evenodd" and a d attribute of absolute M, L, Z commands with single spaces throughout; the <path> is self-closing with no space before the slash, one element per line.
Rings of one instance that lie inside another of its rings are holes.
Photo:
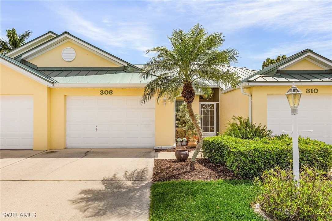
<path fill-rule="evenodd" d="M 262 62 L 310 48 L 332 57 L 332 1 L 2 1 L 6 29 L 64 31 L 132 64 L 154 46 L 169 46 L 173 29 L 199 23 L 225 36 L 222 48 L 240 52 L 233 66 L 261 69 Z M 221 48 L 221 49 L 222 49 Z"/>

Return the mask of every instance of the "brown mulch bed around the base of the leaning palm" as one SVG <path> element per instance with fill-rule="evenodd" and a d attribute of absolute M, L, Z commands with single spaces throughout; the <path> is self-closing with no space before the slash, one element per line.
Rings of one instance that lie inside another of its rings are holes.
<path fill-rule="evenodd" d="M 175 150 L 174 150 L 175 152 Z M 235 179 L 233 172 L 220 164 L 212 164 L 207 159 L 196 159 L 195 170 L 191 171 L 189 159 L 180 162 L 175 159 L 155 160 L 152 182 L 170 180 L 218 180 Z"/>

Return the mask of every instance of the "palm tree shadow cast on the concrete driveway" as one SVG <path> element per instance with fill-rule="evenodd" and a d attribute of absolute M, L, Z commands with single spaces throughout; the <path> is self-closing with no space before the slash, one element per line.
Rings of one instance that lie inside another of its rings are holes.
<path fill-rule="evenodd" d="M 152 183 L 147 168 L 126 171 L 124 178 L 120 180 L 117 174 L 105 177 L 103 188 L 84 189 L 69 201 L 89 218 L 147 220 Z"/>

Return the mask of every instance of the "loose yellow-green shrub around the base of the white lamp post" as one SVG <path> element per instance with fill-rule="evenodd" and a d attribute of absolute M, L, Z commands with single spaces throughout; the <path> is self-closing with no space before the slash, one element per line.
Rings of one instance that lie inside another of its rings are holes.
<path fill-rule="evenodd" d="M 321 170 L 303 167 L 296 187 L 291 168 L 276 167 L 254 184 L 257 202 L 273 220 L 332 219 L 332 181 Z"/>

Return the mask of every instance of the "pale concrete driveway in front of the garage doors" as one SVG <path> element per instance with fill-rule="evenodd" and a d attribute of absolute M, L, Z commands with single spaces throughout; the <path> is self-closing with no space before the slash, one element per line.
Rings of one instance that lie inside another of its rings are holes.
<path fill-rule="evenodd" d="M 0 157 L 1 220 L 149 217 L 153 149 L 1 150 Z"/>

